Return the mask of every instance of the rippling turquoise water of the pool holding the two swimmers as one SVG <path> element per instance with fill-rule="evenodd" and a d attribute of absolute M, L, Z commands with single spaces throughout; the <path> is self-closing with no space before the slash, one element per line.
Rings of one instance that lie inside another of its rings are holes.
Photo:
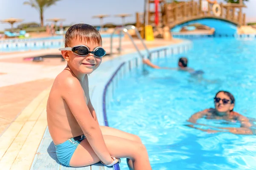
<path fill-rule="evenodd" d="M 207 133 L 185 126 L 193 113 L 214 107 L 219 90 L 235 96 L 235 111 L 256 118 L 256 40 L 207 38 L 193 40 L 193 46 L 183 55 L 190 67 L 204 70 L 204 79 L 210 82 L 200 82 L 185 72 L 146 68 L 145 75 L 134 70 L 119 83 L 107 109 L 109 125 L 141 137 L 153 170 L 256 170 L 256 136 Z M 176 67 L 183 55 L 154 63 Z M 121 170 L 128 170 L 125 162 Z"/>

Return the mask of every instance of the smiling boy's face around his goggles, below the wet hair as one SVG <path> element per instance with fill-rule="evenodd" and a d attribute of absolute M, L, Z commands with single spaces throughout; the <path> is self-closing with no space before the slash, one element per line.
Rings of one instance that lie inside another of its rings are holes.
<path fill-rule="evenodd" d="M 70 42 L 70 47 L 74 47 L 76 45 L 86 45 L 90 51 L 93 51 L 96 47 L 102 46 L 100 44 L 85 42 L 84 40 L 81 41 L 79 38 L 71 40 Z M 68 65 L 81 74 L 91 74 L 102 62 L 102 58 L 94 57 L 91 53 L 87 56 L 78 56 L 72 51 L 66 51 L 66 53 L 67 54 L 62 55 L 67 56 L 64 58 L 67 60 Z"/>

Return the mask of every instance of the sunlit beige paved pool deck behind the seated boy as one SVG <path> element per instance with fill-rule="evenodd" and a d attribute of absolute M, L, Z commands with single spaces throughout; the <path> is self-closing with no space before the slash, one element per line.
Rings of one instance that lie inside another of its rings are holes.
<path fill-rule="evenodd" d="M 118 47 L 114 40 L 113 49 Z M 182 40 L 156 39 L 146 42 L 148 48 L 176 44 Z M 110 51 L 109 38 L 103 47 Z M 144 50 L 135 39 L 139 49 Z M 122 40 L 122 55 L 136 51 L 130 40 Z M 116 51 L 116 50 L 115 50 Z M 114 52 L 115 52 L 114 51 Z M 47 127 L 46 103 L 54 78 L 66 66 L 61 59 L 44 62 L 24 61 L 24 57 L 60 54 L 57 49 L 0 53 L 0 167 L 3 170 L 28 170 Z M 118 57 L 105 56 L 102 62 Z M 92 96 L 91 96 L 92 97 Z"/>

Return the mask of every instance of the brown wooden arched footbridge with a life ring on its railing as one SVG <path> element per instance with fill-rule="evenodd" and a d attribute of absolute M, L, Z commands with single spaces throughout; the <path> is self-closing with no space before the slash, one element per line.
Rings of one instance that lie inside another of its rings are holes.
<path fill-rule="evenodd" d="M 207 1 L 207 2 L 206 2 Z M 189 2 L 166 3 L 159 0 L 160 10 L 158 27 L 169 26 L 173 28 L 177 25 L 204 18 L 213 18 L 233 23 L 237 26 L 245 25 L 245 14 L 242 8 L 246 7 L 242 0 L 237 3 L 217 3 L 211 0 L 191 0 Z M 154 0 L 149 0 L 148 4 L 148 25 L 155 25 Z M 151 10 L 153 9 L 153 10 Z M 144 13 L 137 13 L 137 28 L 144 25 Z"/>

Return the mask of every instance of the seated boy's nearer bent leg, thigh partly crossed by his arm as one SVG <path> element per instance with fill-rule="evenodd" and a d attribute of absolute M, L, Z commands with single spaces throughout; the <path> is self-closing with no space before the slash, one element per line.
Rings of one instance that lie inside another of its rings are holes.
<path fill-rule="evenodd" d="M 105 143 L 111 156 L 116 158 L 129 158 L 133 161 L 134 170 L 151 170 L 148 153 L 142 143 L 116 136 L 104 135 Z M 76 148 L 70 166 L 82 167 L 99 162 L 99 158 L 90 147 L 87 139 L 84 139 Z"/>

